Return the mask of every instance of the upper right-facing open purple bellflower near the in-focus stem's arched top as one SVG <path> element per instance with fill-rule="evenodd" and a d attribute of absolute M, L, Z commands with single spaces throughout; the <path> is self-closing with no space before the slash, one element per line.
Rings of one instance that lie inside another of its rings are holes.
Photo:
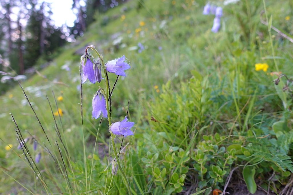
<path fill-rule="evenodd" d="M 130 68 L 130 65 L 128 65 L 126 62 L 124 62 L 125 56 L 123 55 L 121 58 L 108 61 L 105 64 L 106 70 L 110 73 L 114 73 L 115 75 L 120 75 L 125 77 L 124 70 L 127 70 Z"/>

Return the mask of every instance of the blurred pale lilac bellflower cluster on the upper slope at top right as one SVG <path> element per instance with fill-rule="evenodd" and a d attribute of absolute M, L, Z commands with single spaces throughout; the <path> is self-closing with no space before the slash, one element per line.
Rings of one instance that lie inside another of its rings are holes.
<path fill-rule="evenodd" d="M 222 7 L 206 4 L 205 7 L 203 8 L 202 13 L 204 15 L 209 15 L 209 14 L 215 15 L 214 23 L 213 23 L 213 27 L 211 31 L 214 33 L 218 32 L 221 26 L 221 17 L 223 15 Z"/>

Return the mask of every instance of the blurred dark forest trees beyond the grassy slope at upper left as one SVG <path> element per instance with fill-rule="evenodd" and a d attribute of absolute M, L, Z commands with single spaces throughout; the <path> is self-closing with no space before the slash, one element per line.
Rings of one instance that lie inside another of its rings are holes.
<path fill-rule="evenodd" d="M 35 69 L 45 67 L 56 56 L 60 46 L 83 36 L 88 25 L 95 20 L 95 14 L 123 2 L 72 0 L 72 11 L 76 14 L 74 26 L 64 24 L 58 27 L 51 18 L 50 3 L 42 0 L 1 0 L 0 71 L 6 77 L 1 78 L 0 94 L 15 84 L 13 76 L 35 73 Z M 33 68 L 34 65 L 39 67 Z"/>

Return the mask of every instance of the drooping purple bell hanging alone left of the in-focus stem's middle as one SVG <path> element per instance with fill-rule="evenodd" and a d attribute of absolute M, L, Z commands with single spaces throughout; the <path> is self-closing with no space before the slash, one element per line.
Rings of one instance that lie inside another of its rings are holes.
<path fill-rule="evenodd" d="M 95 118 L 95 119 L 99 118 L 101 113 L 103 113 L 103 117 L 108 118 L 108 114 L 106 110 L 106 101 L 103 94 L 101 94 L 99 90 L 93 96 L 92 118 Z"/>

